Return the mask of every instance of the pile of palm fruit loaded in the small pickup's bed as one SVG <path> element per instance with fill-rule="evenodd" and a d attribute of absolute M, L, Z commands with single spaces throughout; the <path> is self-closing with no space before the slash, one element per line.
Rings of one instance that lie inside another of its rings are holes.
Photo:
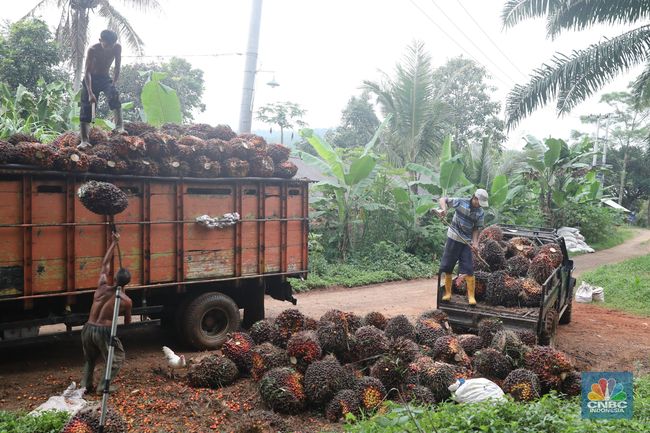
<path fill-rule="evenodd" d="M 478 252 L 480 258 L 474 255 L 476 300 L 504 307 L 539 307 L 544 283 L 564 260 L 558 244 L 537 245 L 525 237 L 506 240 L 496 225 L 481 232 Z M 467 293 L 462 275 L 454 280 L 453 291 Z"/>

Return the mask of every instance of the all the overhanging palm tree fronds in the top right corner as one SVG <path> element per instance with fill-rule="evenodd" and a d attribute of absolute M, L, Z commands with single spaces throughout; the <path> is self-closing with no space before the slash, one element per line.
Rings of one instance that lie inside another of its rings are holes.
<path fill-rule="evenodd" d="M 501 16 L 505 27 L 534 17 L 546 17 L 547 37 L 554 39 L 565 30 L 584 30 L 594 24 L 645 22 L 650 18 L 650 1 L 508 0 Z M 641 63 L 646 68 L 636 79 L 634 93 L 637 98 L 648 98 L 650 25 L 645 23 L 570 55 L 556 54 L 533 72 L 528 84 L 511 90 L 507 124 L 516 125 L 550 99 L 557 99 L 558 114 L 568 113 L 614 76 Z"/>

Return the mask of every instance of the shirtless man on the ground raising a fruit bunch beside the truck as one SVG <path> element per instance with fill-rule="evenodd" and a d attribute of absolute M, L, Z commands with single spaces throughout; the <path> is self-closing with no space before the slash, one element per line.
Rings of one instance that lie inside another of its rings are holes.
<path fill-rule="evenodd" d="M 102 261 L 102 270 L 99 275 L 97 290 L 93 296 L 93 305 L 90 307 L 88 322 L 81 330 L 81 343 L 84 350 L 86 365 L 84 367 L 84 377 L 81 386 L 85 387 L 88 392 L 93 391 L 93 373 L 95 362 L 99 355 L 106 360 L 108 356 L 108 347 L 111 341 L 111 324 L 113 323 L 113 309 L 115 307 L 115 289 L 116 286 L 108 284 L 108 273 L 110 272 L 110 261 L 119 235 L 113 233 L 113 242 Z M 131 278 L 129 271 L 120 269 L 115 276 L 116 283 L 128 284 Z M 126 296 L 125 292 L 120 294 L 120 313 L 124 315 L 124 323 L 131 323 L 131 307 L 133 303 Z M 115 337 L 115 351 L 113 356 L 113 368 L 111 369 L 111 379 L 114 379 L 124 362 L 124 347 L 122 342 Z M 104 390 L 104 379 L 98 389 L 99 392 Z M 112 388 L 112 387 L 111 387 Z"/>

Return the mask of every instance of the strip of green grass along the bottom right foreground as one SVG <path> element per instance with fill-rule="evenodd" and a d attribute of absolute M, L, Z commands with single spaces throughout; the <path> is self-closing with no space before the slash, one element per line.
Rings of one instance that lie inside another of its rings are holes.
<path fill-rule="evenodd" d="M 411 407 L 388 403 L 387 412 L 351 419 L 349 433 L 607 433 L 647 432 L 650 425 L 650 376 L 635 381 L 631 420 L 588 420 L 580 416 L 580 399 L 549 394 L 530 403 L 442 403 Z"/>

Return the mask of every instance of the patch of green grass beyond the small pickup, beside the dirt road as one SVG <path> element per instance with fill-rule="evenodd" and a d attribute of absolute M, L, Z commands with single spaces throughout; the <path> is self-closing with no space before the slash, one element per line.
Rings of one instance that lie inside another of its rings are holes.
<path fill-rule="evenodd" d="M 605 307 L 650 316 L 650 255 L 602 266 L 581 279 L 605 289 Z"/>

